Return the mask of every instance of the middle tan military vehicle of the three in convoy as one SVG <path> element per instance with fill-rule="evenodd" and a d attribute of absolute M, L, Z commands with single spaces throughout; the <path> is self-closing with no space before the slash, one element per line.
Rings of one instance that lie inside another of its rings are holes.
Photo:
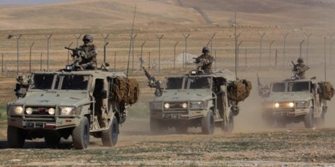
<path fill-rule="evenodd" d="M 250 82 L 235 81 L 234 75 L 227 71 L 209 74 L 191 70 L 185 75 L 166 77 L 164 88 L 161 81 L 156 81 L 147 70 L 144 72 L 149 86 L 156 88 L 156 98 L 149 102 L 150 129 L 155 134 L 169 127 L 181 134 L 188 127 L 201 127 L 204 134 L 213 134 L 215 126 L 232 132 L 241 100 L 233 100 L 231 96 L 236 96 L 236 85 L 245 90 L 244 99 L 251 90 Z"/>

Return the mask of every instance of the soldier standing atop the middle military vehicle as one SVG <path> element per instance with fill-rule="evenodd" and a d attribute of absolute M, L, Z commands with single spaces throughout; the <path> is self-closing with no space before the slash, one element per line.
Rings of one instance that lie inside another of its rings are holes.
<path fill-rule="evenodd" d="M 209 54 L 210 51 L 207 47 L 202 48 L 202 55 L 195 58 L 195 63 L 200 67 L 205 73 L 211 73 L 211 65 L 215 58 Z"/>

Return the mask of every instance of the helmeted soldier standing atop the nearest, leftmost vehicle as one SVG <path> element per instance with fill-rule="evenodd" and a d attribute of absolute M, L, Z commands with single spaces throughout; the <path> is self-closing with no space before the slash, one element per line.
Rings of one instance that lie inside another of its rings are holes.
<path fill-rule="evenodd" d="M 82 61 L 80 61 L 79 65 L 84 70 L 96 70 L 96 55 L 98 54 L 96 51 L 96 45 L 94 45 L 93 38 L 91 35 L 86 34 L 84 38 L 82 38 L 84 45 L 79 47 L 79 50 L 84 53 L 82 56 Z"/>

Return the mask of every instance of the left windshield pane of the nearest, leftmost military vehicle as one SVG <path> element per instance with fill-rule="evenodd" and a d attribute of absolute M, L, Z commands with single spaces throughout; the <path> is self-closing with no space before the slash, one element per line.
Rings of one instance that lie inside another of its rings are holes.
<path fill-rule="evenodd" d="M 51 89 L 54 74 L 34 74 L 31 89 Z"/>

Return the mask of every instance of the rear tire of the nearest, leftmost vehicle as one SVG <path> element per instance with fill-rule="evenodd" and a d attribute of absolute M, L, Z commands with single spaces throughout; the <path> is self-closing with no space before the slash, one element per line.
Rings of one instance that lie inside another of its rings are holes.
<path fill-rule="evenodd" d="M 103 141 L 104 146 L 111 147 L 117 144 L 118 137 L 119 137 L 119 122 L 117 122 L 117 118 L 114 116 L 108 130 L 103 131 L 103 133 L 101 134 L 101 141 Z"/>

